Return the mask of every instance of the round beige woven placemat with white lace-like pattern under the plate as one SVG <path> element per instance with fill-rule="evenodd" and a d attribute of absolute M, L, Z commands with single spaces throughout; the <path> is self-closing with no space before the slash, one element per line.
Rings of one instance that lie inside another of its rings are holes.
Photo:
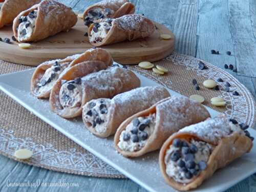
<path fill-rule="evenodd" d="M 209 63 L 204 62 L 207 70 L 199 70 L 199 61 L 194 57 L 174 53 L 155 63 L 169 70 L 168 74 L 163 76 L 154 74 L 152 70 L 143 70 L 138 66 L 129 68 L 182 95 L 203 95 L 205 105 L 253 127 L 255 104 L 250 92 L 230 74 Z M 30 68 L 0 61 L 0 74 Z M 199 91 L 196 91 L 192 84 L 194 78 L 199 83 Z M 220 91 L 203 87 L 202 82 L 209 78 L 224 80 L 219 83 Z M 231 84 L 230 92 L 223 91 L 225 82 Z M 239 96 L 233 96 L 233 91 L 237 91 Z M 227 101 L 225 108 L 216 108 L 210 104 L 210 98 L 217 96 Z M 124 178 L 117 170 L 31 114 L 3 92 L 0 92 L 0 102 L 0 154 L 15 159 L 13 157 L 15 150 L 26 147 L 30 148 L 34 155 L 29 161 L 23 162 L 34 166 L 78 175 Z"/>

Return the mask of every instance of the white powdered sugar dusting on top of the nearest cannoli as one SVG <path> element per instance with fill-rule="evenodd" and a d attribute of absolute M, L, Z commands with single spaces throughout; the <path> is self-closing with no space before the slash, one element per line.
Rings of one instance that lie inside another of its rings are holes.
<path fill-rule="evenodd" d="M 233 124 L 225 115 L 219 115 L 212 119 L 207 119 L 203 122 L 184 127 L 179 132 L 188 132 L 197 135 L 199 138 L 205 139 L 218 144 L 223 137 L 231 135 L 234 132 L 243 134 L 238 124 Z"/>

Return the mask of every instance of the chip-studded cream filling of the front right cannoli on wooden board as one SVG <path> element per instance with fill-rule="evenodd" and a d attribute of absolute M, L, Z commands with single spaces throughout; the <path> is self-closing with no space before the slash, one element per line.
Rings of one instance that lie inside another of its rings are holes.
<path fill-rule="evenodd" d="M 109 19 L 100 23 L 95 23 L 89 36 L 90 41 L 94 43 L 103 41 L 111 29 L 111 22 L 112 20 Z"/>

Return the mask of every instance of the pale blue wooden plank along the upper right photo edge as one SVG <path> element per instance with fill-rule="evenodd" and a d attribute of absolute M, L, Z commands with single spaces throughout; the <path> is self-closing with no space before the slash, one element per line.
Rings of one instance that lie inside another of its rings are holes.
<path fill-rule="evenodd" d="M 254 4 L 251 4 L 252 7 Z M 228 1 L 229 27 L 234 43 L 238 73 L 256 77 L 256 39 L 253 34 L 249 1 Z M 251 9 L 253 12 L 254 9 Z M 253 15 L 255 17 L 255 14 Z M 254 28 L 255 29 L 255 28 Z M 255 31 L 254 31 L 255 32 Z"/>

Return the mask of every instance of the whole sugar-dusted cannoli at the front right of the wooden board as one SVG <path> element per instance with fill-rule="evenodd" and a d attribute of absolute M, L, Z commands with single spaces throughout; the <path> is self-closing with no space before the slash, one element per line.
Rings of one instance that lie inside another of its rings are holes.
<path fill-rule="evenodd" d="M 139 14 L 99 19 L 88 29 L 90 43 L 96 47 L 148 37 L 154 32 L 153 22 Z"/>

